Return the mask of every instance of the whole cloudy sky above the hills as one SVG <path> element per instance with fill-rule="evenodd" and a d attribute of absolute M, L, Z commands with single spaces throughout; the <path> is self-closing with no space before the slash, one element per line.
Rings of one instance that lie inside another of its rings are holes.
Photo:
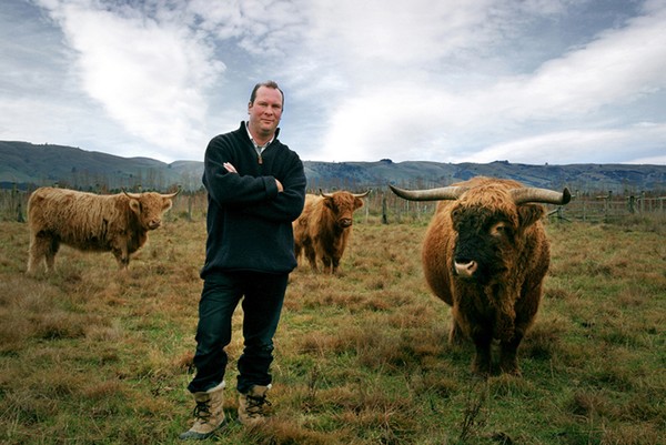
<path fill-rule="evenodd" d="M 1 0 L 0 140 L 203 161 L 666 164 L 666 0 Z"/>

